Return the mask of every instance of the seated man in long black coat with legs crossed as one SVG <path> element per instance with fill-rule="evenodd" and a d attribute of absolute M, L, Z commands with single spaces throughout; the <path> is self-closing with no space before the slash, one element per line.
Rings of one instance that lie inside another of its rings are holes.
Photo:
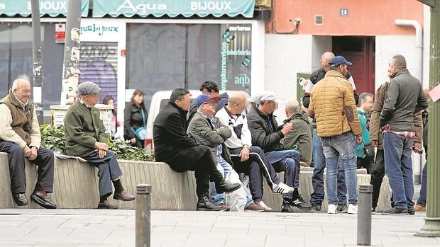
<path fill-rule="evenodd" d="M 209 178 L 216 183 L 217 193 L 232 192 L 239 183 L 229 183 L 217 170 L 209 147 L 199 144 L 187 135 L 187 113 L 190 105 L 189 91 L 177 88 L 170 102 L 154 120 L 153 141 L 155 160 L 167 163 L 177 172 L 195 171 L 197 210 L 221 210 L 209 198 Z"/>

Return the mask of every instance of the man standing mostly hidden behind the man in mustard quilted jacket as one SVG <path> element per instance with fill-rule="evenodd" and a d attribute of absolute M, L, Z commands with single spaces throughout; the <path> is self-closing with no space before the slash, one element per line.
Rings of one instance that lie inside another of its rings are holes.
<path fill-rule="evenodd" d="M 305 108 L 309 108 L 310 93 L 312 92 L 314 84 L 324 78 L 326 72 L 330 70 L 330 59 L 334 57 L 333 52 L 324 52 L 321 56 L 321 69 L 317 69 L 310 75 L 307 88 L 302 97 L 302 105 Z M 356 93 L 356 86 L 354 85 L 353 76 L 350 71 L 347 71 L 346 79 L 350 81 L 353 86 L 354 100 L 356 105 L 359 102 L 359 96 Z M 324 149 L 321 145 L 321 140 L 317 134 L 317 122 L 313 118 L 313 133 L 312 133 L 312 145 L 313 145 L 313 175 L 312 175 L 312 187 L 313 193 L 310 195 L 310 203 L 314 211 L 321 211 L 321 203 L 324 200 L 324 168 L 326 168 L 326 160 L 324 157 Z M 347 188 L 345 185 L 345 176 L 343 168 L 338 168 L 338 200 L 341 204 L 337 209 L 339 212 L 347 212 Z"/>

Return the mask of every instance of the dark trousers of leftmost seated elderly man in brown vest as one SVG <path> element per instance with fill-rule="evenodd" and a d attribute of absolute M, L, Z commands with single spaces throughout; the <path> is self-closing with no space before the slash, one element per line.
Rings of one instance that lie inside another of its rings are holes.
<path fill-rule="evenodd" d="M 11 177 L 11 193 L 26 193 L 26 173 L 23 149 L 13 142 L 0 142 L 0 151 L 8 153 L 9 176 Z M 38 149 L 37 158 L 31 161 L 38 166 L 38 180 L 34 191 L 53 192 L 53 151 Z"/>

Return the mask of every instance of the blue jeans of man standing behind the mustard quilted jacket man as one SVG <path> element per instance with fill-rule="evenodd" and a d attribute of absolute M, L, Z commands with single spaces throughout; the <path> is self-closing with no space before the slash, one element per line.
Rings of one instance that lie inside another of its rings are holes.
<path fill-rule="evenodd" d="M 322 149 L 317 129 L 313 128 L 313 193 L 310 195 L 310 204 L 321 204 L 324 200 L 324 168 L 326 168 L 324 149 Z M 341 166 L 338 166 L 338 200 L 339 204 L 347 204 L 347 187 L 343 167 Z"/>

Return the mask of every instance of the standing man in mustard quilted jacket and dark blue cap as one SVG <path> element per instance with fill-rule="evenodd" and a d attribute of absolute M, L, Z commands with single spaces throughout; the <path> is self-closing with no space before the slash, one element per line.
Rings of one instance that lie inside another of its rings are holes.
<path fill-rule="evenodd" d="M 345 171 L 348 190 L 348 214 L 357 214 L 356 144 L 362 143 L 362 129 L 353 86 L 346 79 L 347 66 L 351 62 L 336 56 L 330 59 L 329 64 L 330 70 L 312 90 L 309 105 L 309 115 L 317 120 L 317 134 L 326 158 L 327 212 L 336 214 L 339 205 L 336 173 L 341 166 Z"/>

